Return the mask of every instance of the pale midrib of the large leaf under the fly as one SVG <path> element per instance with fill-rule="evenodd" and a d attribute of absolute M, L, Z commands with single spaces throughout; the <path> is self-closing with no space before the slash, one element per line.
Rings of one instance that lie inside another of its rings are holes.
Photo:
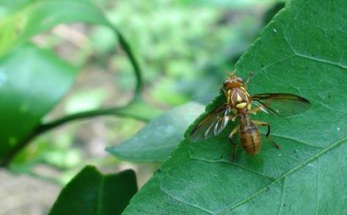
<path fill-rule="evenodd" d="M 262 189 L 259 189 L 258 191 L 253 193 L 251 196 L 248 196 L 247 198 L 244 198 L 244 200 L 240 200 L 237 203 L 233 203 L 231 205 L 228 205 L 228 206 L 224 207 L 223 209 L 221 209 L 221 211 L 217 212 L 216 214 L 225 214 L 228 210 L 233 209 L 235 207 L 238 207 L 240 205 L 243 205 L 244 203 L 248 202 L 248 200 L 251 200 L 251 199 L 255 198 L 256 196 L 258 196 L 263 191 L 266 191 L 267 187 L 269 187 L 270 185 L 275 184 L 276 182 L 279 182 L 282 179 L 285 179 L 288 175 L 291 175 L 291 173 L 294 173 L 295 171 L 298 171 L 303 166 L 306 166 L 307 164 L 310 164 L 311 162 L 316 160 L 318 157 L 321 157 L 322 155 L 325 155 L 325 153 L 328 153 L 330 150 L 332 150 L 332 149 L 336 148 L 337 146 L 341 145 L 346 139 L 347 139 L 347 136 L 345 136 L 345 137 L 335 141 L 335 143 L 330 144 L 329 146 L 325 147 L 323 150 L 319 151 L 319 153 L 316 153 L 315 155 L 312 155 L 312 157 L 307 158 L 307 160 L 305 160 L 301 164 L 298 164 L 293 169 L 287 171 L 287 173 L 283 173 L 280 177 L 276 178 L 276 180 L 273 180 L 269 184 L 266 184 L 266 186 L 264 186 Z"/>

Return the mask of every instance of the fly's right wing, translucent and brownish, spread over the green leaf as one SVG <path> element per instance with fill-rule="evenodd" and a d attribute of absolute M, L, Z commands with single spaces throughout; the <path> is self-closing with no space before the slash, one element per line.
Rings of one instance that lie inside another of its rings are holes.
<path fill-rule="evenodd" d="M 255 94 L 252 103 L 260 110 L 278 117 L 290 117 L 310 109 L 310 101 L 294 94 Z"/>

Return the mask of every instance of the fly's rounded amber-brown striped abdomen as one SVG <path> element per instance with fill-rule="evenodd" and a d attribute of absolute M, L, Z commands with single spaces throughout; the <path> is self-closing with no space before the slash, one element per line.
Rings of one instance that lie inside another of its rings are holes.
<path fill-rule="evenodd" d="M 260 152 L 261 137 L 259 130 L 255 127 L 254 123 L 244 116 L 241 118 L 241 126 L 239 130 L 240 142 L 246 153 L 256 155 Z"/>

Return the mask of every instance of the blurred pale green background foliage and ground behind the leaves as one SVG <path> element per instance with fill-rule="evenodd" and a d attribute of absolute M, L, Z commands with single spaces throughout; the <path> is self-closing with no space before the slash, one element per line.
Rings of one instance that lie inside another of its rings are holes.
<path fill-rule="evenodd" d="M 34 1 L 17 0 L 9 8 L 8 1 L 1 1 L 0 18 L 5 19 L 31 2 Z M 283 6 L 282 1 L 276 0 L 96 3 L 125 35 L 139 60 L 144 72 L 145 100 L 162 110 L 188 101 L 210 102 L 219 94 L 225 71 L 232 68 L 260 29 Z M 45 121 L 125 105 L 132 98 L 136 85 L 133 67 L 110 28 L 60 24 L 35 36 L 33 42 L 81 68 L 69 93 Z M 121 143 L 144 125 L 129 117 L 74 121 L 40 135 L 12 160 L 9 169 L 62 186 L 85 164 L 112 172 L 130 167 L 137 172 L 141 186 L 157 164 L 121 162 L 108 155 L 105 147 Z"/>

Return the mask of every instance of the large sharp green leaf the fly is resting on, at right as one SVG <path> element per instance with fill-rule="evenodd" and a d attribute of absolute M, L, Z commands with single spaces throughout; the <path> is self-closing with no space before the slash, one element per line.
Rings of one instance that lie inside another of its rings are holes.
<path fill-rule="evenodd" d="M 282 150 L 263 136 L 259 155 L 239 147 L 231 163 L 232 125 L 207 141 L 185 139 L 124 214 L 346 214 L 346 8 L 344 0 L 289 1 L 237 62 L 239 76 L 255 72 L 251 94 L 312 103 L 289 119 L 251 116 L 271 123 Z"/>

